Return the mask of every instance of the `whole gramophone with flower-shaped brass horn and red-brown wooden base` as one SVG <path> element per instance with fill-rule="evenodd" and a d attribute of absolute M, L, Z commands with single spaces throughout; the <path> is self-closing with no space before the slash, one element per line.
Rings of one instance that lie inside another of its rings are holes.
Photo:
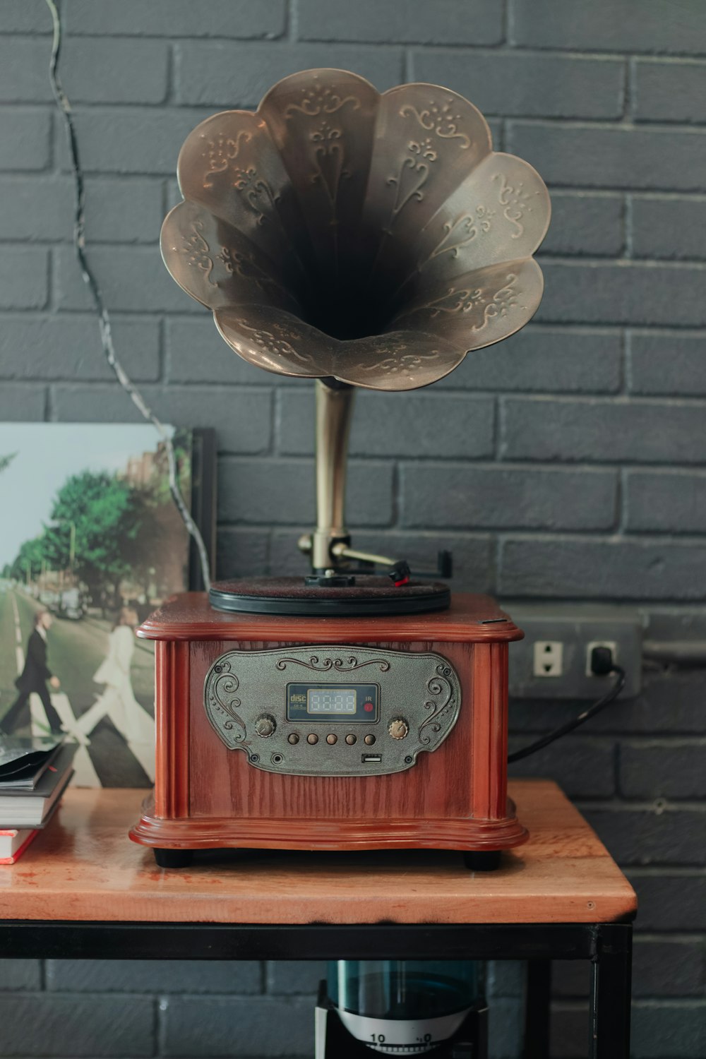
<path fill-rule="evenodd" d="M 345 465 L 357 388 L 426 387 L 530 319 L 546 189 L 461 96 L 379 94 L 341 70 L 207 119 L 178 172 L 171 275 L 240 357 L 315 380 L 316 526 L 308 576 L 217 582 L 140 628 L 157 642 L 157 775 L 131 838 L 175 867 L 214 847 L 445 848 L 494 867 L 527 838 L 506 790 L 522 632 L 488 596 L 450 593 L 448 556 L 427 579 L 356 549 Z"/>

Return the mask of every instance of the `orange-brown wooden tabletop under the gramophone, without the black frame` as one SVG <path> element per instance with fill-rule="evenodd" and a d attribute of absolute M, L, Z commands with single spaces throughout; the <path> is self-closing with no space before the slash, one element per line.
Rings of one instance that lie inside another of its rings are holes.
<path fill-rule="evenodd" d="M 443 850 L 206 850 L 158 868 L 127 832 L 144 791 L 67 791 L 17 864 L 0 866 L 0 918 L 215 923 L 612 922 L 635 893 L 556 784 L 510 783 L 529 842 L 495 872 Z"/>

